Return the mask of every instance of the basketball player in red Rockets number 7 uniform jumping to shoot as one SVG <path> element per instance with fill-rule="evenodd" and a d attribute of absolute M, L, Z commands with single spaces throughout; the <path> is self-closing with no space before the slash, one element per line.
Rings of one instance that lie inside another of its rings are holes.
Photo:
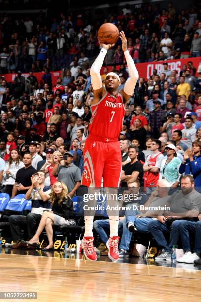
<path fill-rule="evenodd" d="M 94 99 L 91 105 L 92 118 L 89 124 L 89 136 L 86 139 L 83 152 L 82 184 L 93 188 L 101 187 L 102 177 L 104 187 L 118 188 L 121 178 L 121 150 L 118 137 L 122 129 L 125 105 L 134 92 L 139 75 L 127 50 L 127 39 L 123 31 L 120 32 L 120 39 L 130 76 L 124 88 L 118 92 L 120 78 L 113 72 L 106 75 L 105 87 L 102 86 L 100 69 L 107 50 L 114 44 L 100 44 L 102 49 L 90 69 Z M 119 259 L 119 217 L 118 215 L 111 216 L 111 211 L 107 214 L 110 223 L 110 237 L 107 241 L 108 256 L 111 260 L 117 261 Z M 82 246 L 85 257 L 89 260 L 97 260 L 93 245 L 93 220 L 94 216 L 86 216 L 85 214 L 85 234 Z"/>

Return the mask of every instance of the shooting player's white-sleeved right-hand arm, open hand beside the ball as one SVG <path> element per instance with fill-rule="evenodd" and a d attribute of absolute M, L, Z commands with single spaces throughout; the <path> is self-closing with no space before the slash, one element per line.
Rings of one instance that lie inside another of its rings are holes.
<path fill-rule="evenodd" d="M 126 104 L 130 96 L 134 93 L 134 88 L 139 78 L 139 74 L 134 64 L 134 61 L 129 54 L 129 51 L 127 50 L 127 39 L 123 31 L 120 32 L 120 39 L 122 40 L 122 50 L 124 51 L 130 76 L 126 80 L 124 88 L 120 91 L 121 95 L 123 96 L 124 104 Z"/>

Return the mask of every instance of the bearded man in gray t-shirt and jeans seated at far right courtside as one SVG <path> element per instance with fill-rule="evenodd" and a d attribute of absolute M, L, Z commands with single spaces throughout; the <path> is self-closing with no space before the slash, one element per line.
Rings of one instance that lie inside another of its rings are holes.
<path fill-rule="evenodd" d="M 177 245 L 180 237 L 180 220 L 193 220 L 201 211 L 201 194 L 194 189 L 194 179 L 191 175 L 182 176 L 181 190 L 170 196 L 166 206 L 170 207 L 170 211 L 160 212 L 158 220 L 151 221 L 147 228 L 162 248 L 161 254 L 155 257 L 155 260 L 170 261 L 171 248 Z M 169 244 L 164 233 L 170 233 Z"/>

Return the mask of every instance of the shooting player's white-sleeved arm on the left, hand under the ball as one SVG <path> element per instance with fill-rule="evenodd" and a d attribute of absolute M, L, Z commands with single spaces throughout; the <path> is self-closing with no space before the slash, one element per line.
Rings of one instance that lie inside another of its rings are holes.
<path fill-rule="evenodd" d="M 105 93 L 104 88 L 102 87 L 102 79 L 100 76 L 100 69 L 102 67 L 104 58 L 106 56 L 107 50 L 114 46 L 114 44 L 100 44 L 102 46 L 102 49 L 100 50 L 100 53 L 94 63 L 92 64 L 90 68 L 90 75 L 91 75 L 91 81 L 92 81 L 92 87 L 94 89 L 94 99 L 92 101 L 92 104 L 95 104 L 100 101 L 100 98 L 102 97 L 103 92 Z"/>

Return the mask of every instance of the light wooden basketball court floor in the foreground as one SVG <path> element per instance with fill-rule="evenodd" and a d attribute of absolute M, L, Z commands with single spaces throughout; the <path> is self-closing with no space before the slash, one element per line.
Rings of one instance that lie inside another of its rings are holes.
<path fill-rule="evenodd" d="M 59 253 L 43 257 L 30 252 L 0 254 L 0 292 L 36 291 L 39 302 L 189 302 L 201 297 L 201 271 L 189 266 L 92 262 L 79 259 L 81 254 L 66 259 Z"/>

